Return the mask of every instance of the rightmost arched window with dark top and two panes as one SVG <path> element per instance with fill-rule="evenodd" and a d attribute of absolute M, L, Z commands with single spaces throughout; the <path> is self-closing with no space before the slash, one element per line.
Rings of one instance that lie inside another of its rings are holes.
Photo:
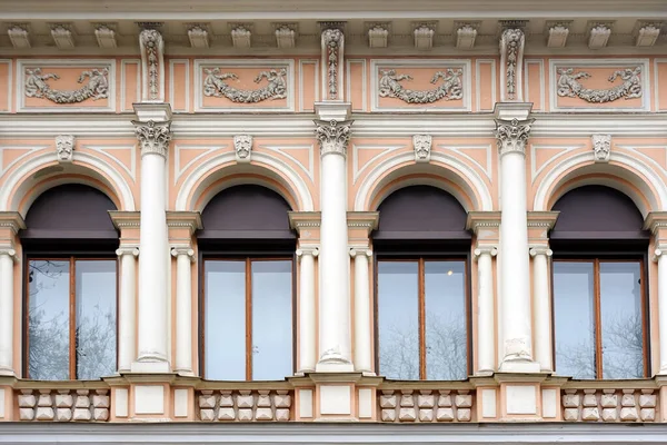
<path fill-rule="evenodd" d="M 575 378 L 648 373 L 646 254 L 649 234 L 626 195 L 585 186 L 564 195 L 554 250 L 556 372 Z"/>

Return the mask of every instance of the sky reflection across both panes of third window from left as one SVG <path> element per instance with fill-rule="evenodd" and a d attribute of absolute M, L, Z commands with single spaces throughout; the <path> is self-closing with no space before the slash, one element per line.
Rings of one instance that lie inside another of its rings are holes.
<path fill-rule="evenodd" d="M 426 261 L 427 378 L 467 376 L 465 263 Z M 378 263 L 380 374 L 419 378 L 417 261 Z"/>

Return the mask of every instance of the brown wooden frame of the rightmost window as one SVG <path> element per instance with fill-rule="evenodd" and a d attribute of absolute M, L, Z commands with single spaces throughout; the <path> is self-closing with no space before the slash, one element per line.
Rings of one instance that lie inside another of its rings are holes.
<path fill-rule="evenodd" d="M 601 329 L 601 293 L 600 293 L 600 264 L 601 263 L 638 263 L 640 276 L 640 301 L 641 308 L 641 338 L 643 338 L 643 358 L 644 374 L 643 377 L 649 377 L 650 354 L 649 354 L 649 307 L 648 307 L 648 270 L 646 268 L 646 256 L 637 255 L 563 255 L 555 257 L 554 263 L 588 263 L 593 264 L 593 312 L 595 329 L 595 379 L 604 380 L 603 368 L 603 329 Z M 556 310 L 554 291 L 554 267 L 551 267 L 551 338 L 552 338 L 552 362 L 554 369 L 558 372 L 558 363 L 556 362 Z"/>

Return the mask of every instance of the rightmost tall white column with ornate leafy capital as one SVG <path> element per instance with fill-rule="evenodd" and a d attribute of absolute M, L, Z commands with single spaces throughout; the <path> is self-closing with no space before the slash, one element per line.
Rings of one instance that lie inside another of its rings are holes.
<path fill-rule="evenodd" d="M 500 316 L 501 372 L 539 372 L 532 360 L 532 318 L 526 206 L 526 142 L 530 103 L 497 103 L 496 137 L 500 156 Z"/>

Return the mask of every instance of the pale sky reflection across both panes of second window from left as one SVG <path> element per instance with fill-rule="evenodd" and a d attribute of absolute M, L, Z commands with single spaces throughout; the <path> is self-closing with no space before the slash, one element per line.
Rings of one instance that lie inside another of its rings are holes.
<path fill-rule="evenodd" d="M 252 261 L 252 378 L 292 375 L 291 261 Z M 246 379 L 246 263 L 205 263 L 206 378 Z"/>

